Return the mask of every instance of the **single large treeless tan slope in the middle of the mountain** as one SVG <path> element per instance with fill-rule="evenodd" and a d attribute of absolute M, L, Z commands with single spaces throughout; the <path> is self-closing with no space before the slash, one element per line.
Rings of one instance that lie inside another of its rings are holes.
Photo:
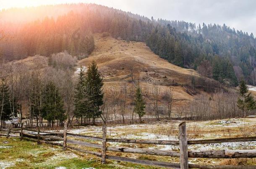
<path fill-rule="evenodd" d="M 180 68 L 159 58 L 142 42 L 127 42 L 112 37 L 102 38 L 99 34 L 95 35 L 94 39 L 94 51 L 88 58 L 79 61 L 79 64 L 88 66 L 92 60 L 97 62 L 104 76 L 104 88 L 108 99 L 112 100 L 112 89 L 118 93 L 127 86 L 130 90 L 129 101 L 131 101 L 133 89 L 139 79 L 147 104 L 152 105 L 156 86 L 160 91 L 159 106 L 167 106 L 162 96 L 170 88 L 175 100 L 174 105 L 193 101 L 193 96 L 186 93 L 182 85 L 191 83 L 192 76 L 199 77 L 196 71 Z M 134 83 L 131 78 L 131 68 L 133 68 Z"/>

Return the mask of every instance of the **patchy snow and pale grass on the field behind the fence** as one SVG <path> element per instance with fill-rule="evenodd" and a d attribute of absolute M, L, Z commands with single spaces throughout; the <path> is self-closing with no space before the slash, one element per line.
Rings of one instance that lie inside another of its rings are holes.
<path fill-rule="evenodd" d="M 132 124 L 132 125 L 116 125 L 107 126 L 107 137 L 120 139 L 143 139 L 143 140 L 178 140 L 177 136 L 167 136 L 165 134 L 154 133 L 154 129 L 161 129 L 161 127 L 178 127 L 180 121 L 170 122 L 155 122 L 150 124 Z M 202 121 L 202 122 L 188 122 L 188 128 L 196 124 L 200 130 L 207 130 L 204 134 L 197 136 L 196 139 L 214 139 L 214 138 L 228 138 L 223 136 L 222 130 L 227 128 L 238 129 L 238 127 L 256 125 L 256 118 L 248 119 L 226 119 L 216 121 Z M 219 132 L 216 132 L 219 131 Z M 84 134 L 90 136 L 101 136 L 101 126 L 81 126 L 79 129 L 69 129 L 69 133 Z M 99 142 L 100 144 L 100 142 Z M 111 146 L 123 146 L 123 143 L 109 143 Z M 136 146 L 136 144 L 134 145 Z M 174 150 L 178 146 L 170 145 L 152 145 L 149 149 L 160 150 Z M 217 144 L 203 144 L 203 145 L 189 145 L 190 150 L 230 150 L 230 149 L 256 149 L 256 141 L 251 142 L 233 142 L 233 143 L 217 143 Z"/>

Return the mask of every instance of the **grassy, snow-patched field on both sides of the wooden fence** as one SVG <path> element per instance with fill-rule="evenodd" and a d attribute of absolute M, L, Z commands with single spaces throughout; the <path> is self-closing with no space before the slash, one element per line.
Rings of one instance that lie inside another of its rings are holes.
<path fill-rule="evenodd" d="M 177 140 L 178 124 L 180 121 L 158 121 L 149 124 L 113 125 L 107 126 L 108 138 L 129 139 L 158 139 Z M 213 139 L 240 136 L 256 136 L 256 118 L 227 119 L 215 121 L 192 122 L 188 121 L 188 139 Z M 58 131 L 61 131 L 58 130 Z M 101 126 L 76 126 L 69 128 L 68 132 L 101 136 Z M 88 140 L 87 140 L 88 141 Z M 101 141 L 90 141 L 99 143 Z M 126 146 L 137 148 L 150 148 L 161 150 L 179 151 L 178 146 L 147 145 L 147 144 L 124 144 L 107 143 L 107 146 Z M 89 149 L 79 147 L 81 149 Z M 222 144 L 190 145 L 190 150 L 223 150 L 223 149 L 256 149 L 256 141 L 234 142 Z M 100 152 L 100 149 L 89 149 Z M 167 161 L 179 163 L 178 157 L 140 155 L 120 152 L 107 152 L 107 154 L 131 157 L 136 159 Z M 191 164 L 254 164 L 256 159 L 194 159 L 190 158 Z M 67 149 L 63 151 L 59 146 L 47 144 L 37 145 L 31 141 L 20 141 L 18 138 L 0 137 L 0 168 L 37 168 L 37 169 L 156 169 L 156 167 L 142 166 L 119 161 L 107 161 L 106 165 L 100 164 L 100 159 L 90 154 L 79 153 Z"/>

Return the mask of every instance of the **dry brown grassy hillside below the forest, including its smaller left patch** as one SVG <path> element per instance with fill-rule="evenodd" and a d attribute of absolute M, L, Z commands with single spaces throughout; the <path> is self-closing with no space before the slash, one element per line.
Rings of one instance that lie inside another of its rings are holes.
<path fill-rule="evenodd" d="M 147 114 L 153 114 L 154 91 L 156 88 L 159 91 L 157 98 L 160 111 L 167 111 L 167 102 L 163 96 L 170 92 L 174 100 L 172 103 L 173 112 L 175 112 L 175 109 L 194 101 L 197 95 L 202 93 L 209 95 L 211 93 L 205 92 L 206 88 L 201 86 L 202 78 L 196 71 L 169 63 L 154 54 L 145 43 L 118 40 L 111 36 L 102 37 L 102 35 L 94 34 L 94 51 L 88 58 L 78 61 L 74 71 L 78 70 L 80 65 L 87 67 L 92 60 L 96 61 L 104 77 L 104 93 L 107 101 L 113 101 L 114 97 L 120 101 L 123 99 L 122 92 L 124 88 L 128 89 L 126 114 L 131 114 L 132 112 L 131 103 L 138 83 L 143 90 L 147 104 Z M 47 72 L 49 68 L 48 58 L 44 56 L 28 57 L 10 63 L 24 63 L 32 71 L 42 70 Z M 131 74 L 133 74 L 133 80 Z M 76 73 L 74 73 L 74 76 L 76 76 Z M 193 78 L 196 80 L 192 89 Z M 208 81 L 206 82 L 206 80 Z M 216 83 L 216 81 L 206 78 L 204 81 L 206 87 Z M 119 109 L 120 107 L 117 106 L 117 108 Z"/>

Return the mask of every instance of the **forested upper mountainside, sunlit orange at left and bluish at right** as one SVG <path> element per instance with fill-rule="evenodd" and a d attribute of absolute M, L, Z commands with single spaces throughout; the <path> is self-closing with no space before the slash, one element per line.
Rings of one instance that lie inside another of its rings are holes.
<path fill-rule="evenodd" d="M 55 10 L 60 13 L 53 14 Z M 226 25 L 201 27 L 183 21 L 150 20 L 95 4 L 28 8 L 24 16 L 31 17 L 17 20 L 19 11 L 24 10 L 0 13 L 1 18 L 8 18 L 1 21 L 1 28 L 9 35 L 7 43 L 1 44 L 1 55 L 9 61 L 36 54 L 50 56 L 64 50 L 84 58 L 94 49 L 92 34 L 109 32 L 114 38 L 146 42 L 170 63 L 199 70 L 203 76 L 227 85 L 237 86 L 242 78 L 256 83 L 253 34 Z M 38 13 L 40 18 L 32 17 Z"/>

